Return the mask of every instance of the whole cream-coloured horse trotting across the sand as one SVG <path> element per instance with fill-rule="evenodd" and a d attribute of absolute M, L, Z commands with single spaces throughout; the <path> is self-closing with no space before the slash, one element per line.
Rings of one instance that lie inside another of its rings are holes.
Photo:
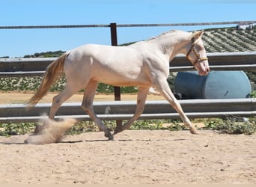
<path fill-rule="evenodd" d="M 149 40 L 139 41 L 129 46 L 106 46 L 85 44 L 65 52 L 46 68 L 40 87 L 28 100 L 28 107 L 33 107 L 46 95 L 50 86 L 65 74 L 67 85 L 52 99 L 49 118 L 54 119 L 61 104 L 74 93 L 84 89 L 83 110 L 104 132 L 106 138 L 132 126 L 132 123 L 144 110 L 145 100 L 150 88 L 162 94 L 180 115 L 184 125 L 192 134 L 197 130 L 184 114 L 180 103 L 168 86 L 169 63 L 177 54 L 184 54 L 201 76 L 210 71 L 206 50 L 202 41 L 204 31 L 167 31 Z M 138 87 L 135 114 L 121 128 L 110 132 L 94 112 L 93 101 L 98 82 L 113 86 Z"/>

